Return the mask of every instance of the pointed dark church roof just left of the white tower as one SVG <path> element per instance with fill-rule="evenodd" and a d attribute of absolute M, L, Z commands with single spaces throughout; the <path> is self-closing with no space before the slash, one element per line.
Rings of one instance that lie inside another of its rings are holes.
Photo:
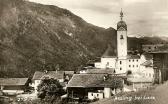
<path fill-rule="evenodd" d="M 104 58 L 108 58 L 108 57 L 117 57 L 115 56 L 114 50 L 112 49 L 112 47 L 110 45 L 108 45 L 108 48 L 106 49 L 106 51 L 104 52 L 104 54 L 102 55 L 102 57 Z"/>

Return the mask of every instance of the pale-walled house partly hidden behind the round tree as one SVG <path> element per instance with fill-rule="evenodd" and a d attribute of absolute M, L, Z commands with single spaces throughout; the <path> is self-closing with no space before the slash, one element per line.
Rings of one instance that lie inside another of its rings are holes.
<path fill-rule="evenodd" d="M 70 80 L 72 75 L 74 74 L 74 71 L 36 71 L 34 73 L 34 76 L 32 78 L 32 87 L 34 87 L 35 93 L 37 93 L 38 85 L 41 83 L 42 79 L 48 78 L 48 79 L 57 79 L 63 87 L 65 87 L 67 81 Z"/>

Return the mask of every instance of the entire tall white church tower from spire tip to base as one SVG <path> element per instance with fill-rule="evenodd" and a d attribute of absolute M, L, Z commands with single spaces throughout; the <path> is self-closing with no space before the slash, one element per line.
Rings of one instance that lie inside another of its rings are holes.
<path fill-rule="evenodd" d="M 117 67 L 116 73 L 127 72 L 127 25 L 123 21 L 123 12 L 120 12 L 121 20 L 117 23 Z"/>

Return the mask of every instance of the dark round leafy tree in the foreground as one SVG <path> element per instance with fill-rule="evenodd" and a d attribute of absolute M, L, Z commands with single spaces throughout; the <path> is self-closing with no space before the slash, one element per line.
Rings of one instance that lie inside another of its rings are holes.
<path fill-rule="evenodd" d="M 45 78 L 38 86 L 38 97 L 53 102 L 64 93 L 62 88 L 58 80 Z"/>

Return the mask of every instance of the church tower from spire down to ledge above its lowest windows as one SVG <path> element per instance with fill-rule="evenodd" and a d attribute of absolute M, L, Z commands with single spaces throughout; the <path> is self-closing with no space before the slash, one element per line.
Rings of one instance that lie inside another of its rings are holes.
<path fill-rule="evenodd" d="M 118 58 L 127 58 L 127 25 L 123 21 L 123 12 L 120 12 L 121 20 L 117 23 L 117 55 Z"/>

